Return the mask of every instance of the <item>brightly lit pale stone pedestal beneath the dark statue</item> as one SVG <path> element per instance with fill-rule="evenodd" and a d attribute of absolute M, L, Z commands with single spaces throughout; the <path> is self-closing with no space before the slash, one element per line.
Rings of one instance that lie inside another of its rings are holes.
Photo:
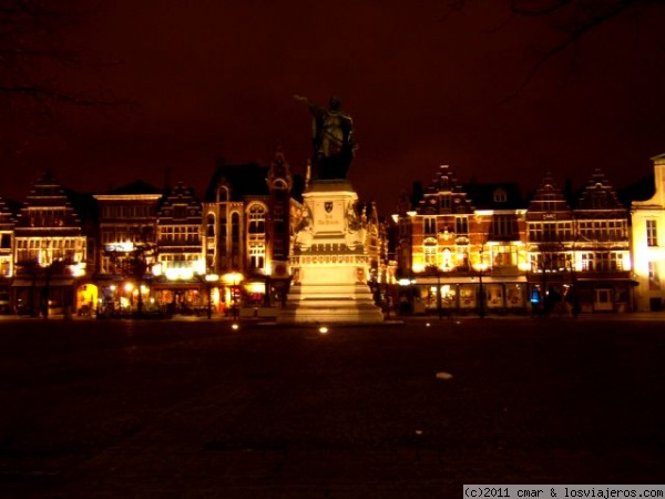
<path fill-rule="evenodd" d="M 346 181 L 318 181 L 305 192 L 291 257 L 293 281 L 278 323 L 378 323 L 383 314 L 367 284 L 365 226 Z"/>

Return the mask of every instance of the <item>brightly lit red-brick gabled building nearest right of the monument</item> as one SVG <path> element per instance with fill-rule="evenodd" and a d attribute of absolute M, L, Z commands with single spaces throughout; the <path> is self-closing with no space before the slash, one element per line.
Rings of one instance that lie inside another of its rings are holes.
<path fill-rule="evenodd" d="M 400 201 L 399 308 L 524 312 L 524 213 L 516 185 L 462 185 L 440 166 L 421 198 Z"/>

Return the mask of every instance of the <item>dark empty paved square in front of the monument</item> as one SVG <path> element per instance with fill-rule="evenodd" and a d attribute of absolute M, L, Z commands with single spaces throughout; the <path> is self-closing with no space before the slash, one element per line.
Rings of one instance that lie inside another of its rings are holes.
<path fill-rule="evenodd" d="M 661 483 L 665 323 L 2 322 L 0 497 Z M 452 378 L 437 377 L 449 373 Z"/>

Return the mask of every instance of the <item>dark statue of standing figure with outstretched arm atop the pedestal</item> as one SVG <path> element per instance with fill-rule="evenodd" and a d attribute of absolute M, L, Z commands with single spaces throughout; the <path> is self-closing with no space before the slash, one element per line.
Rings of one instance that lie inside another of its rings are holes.
<path fill-rule="evenodd" d="M 294 99 L 307 104 L 313 115 L 311 179 L 346 179 L 356 151 L 351 116 L 341 111 L 336 96 L 330 98 L 327 109 L 300 95 Z"/>

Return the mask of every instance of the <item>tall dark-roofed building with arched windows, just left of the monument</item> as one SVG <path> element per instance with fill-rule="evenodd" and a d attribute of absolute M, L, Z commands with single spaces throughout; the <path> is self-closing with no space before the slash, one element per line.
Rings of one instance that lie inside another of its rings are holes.
<path fill-rule="evenodd" d="M 267 306 L 288 287 L 294 193 L 303 185 L 278 150 L 268 165 L 219 163 L 203 202 L 207 274 L 219 276 L 227 307 Z"/>

